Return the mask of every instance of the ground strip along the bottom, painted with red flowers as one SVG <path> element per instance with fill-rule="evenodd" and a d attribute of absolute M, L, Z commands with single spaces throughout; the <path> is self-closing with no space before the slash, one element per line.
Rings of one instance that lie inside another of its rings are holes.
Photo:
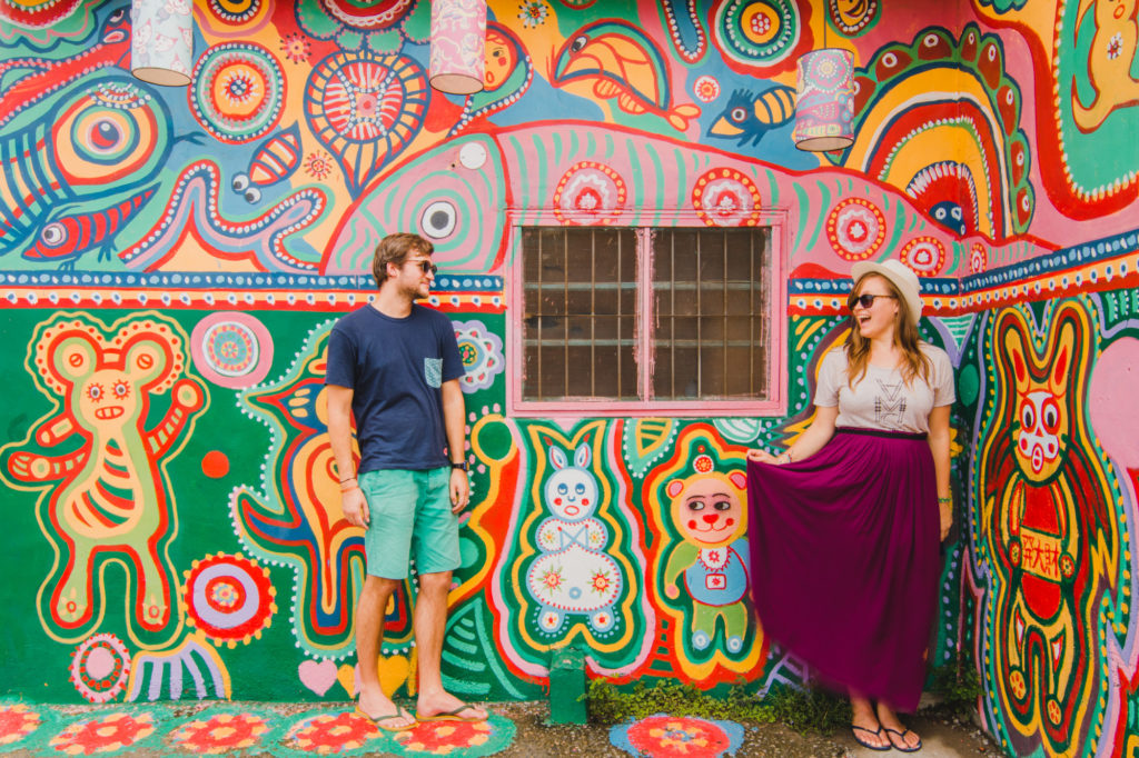
<path fill-rule="evenodd" d="M 613 727 L 549 725 L 544 702 L 492 703 L 491 722 L 420 724 L 379 733 L 349 703 L 157 703 L 41 706 L 0 701 L 0 752 L 158 756 L 427 756 L 454 758 L 652 758 L 719 756 L 862 758 L 899 755 L 859 747 L 849 731 L 801 735 L 782 724 L 707 722 L 655 716 Z M 32 725 L 31 715 L 40 720 Z M 927 710 L 906 719 L 924 741 L 923 758 L 999 758 L 972 723 Z M 254 728 L 251 728 L 251 724 Z M 6 731 L 7 730 L 7 731 Z M 133 730 L 133 732 L 131 731 Z M 228 743 L 227 743 L 228 740 Z M 718 742 L 719 740 L 719 742 Z"/>

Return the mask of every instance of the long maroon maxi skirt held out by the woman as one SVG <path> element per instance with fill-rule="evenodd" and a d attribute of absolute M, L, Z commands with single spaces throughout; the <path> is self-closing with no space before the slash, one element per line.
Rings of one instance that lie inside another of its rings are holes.
<path fill-rule="evenodd" d="M 827 684 L 916 710 L 941 576 L 925 435 L 837 429 L 805 461 L 748 462 L 747 500 L 764 633 Z"/>

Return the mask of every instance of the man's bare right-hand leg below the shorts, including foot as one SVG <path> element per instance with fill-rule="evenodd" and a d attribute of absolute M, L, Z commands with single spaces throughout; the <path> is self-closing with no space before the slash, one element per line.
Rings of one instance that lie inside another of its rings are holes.
<path fill-rule="evenodd" d="M 483 720 L 486 711 L 467 706 L 443 689 L 440 670 L 443 656 L 443 634 L 446 631 L 446 596 L 451 592 L 451 572 L 419 575 L 419 596 L 416 599 L 416 646 L 419 652 L 419 700 L 416 715 L 431 718 L 441 714 Z"/>

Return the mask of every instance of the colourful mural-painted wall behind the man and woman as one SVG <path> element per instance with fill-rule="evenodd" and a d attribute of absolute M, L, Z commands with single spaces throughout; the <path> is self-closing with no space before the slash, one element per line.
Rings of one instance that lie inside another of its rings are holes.
<path fill-rule="evenodd" d="M 129 74 L 125 3 L 5 5 L 0 691 L 353 693 L 325 346 L 375 244 L 415 231 L 467 366 L 451 689 L 542 698 L 568 644 L 618 682 L 802 683 L 749 605 L 778 579 L 748 571 L 744 451 L 806 427 L 851 263 L 900 257 L 959 369 L 931 661 L 975 662 L 1009 755 L 1139 750 L 1136 2 L 890 5 L 492 0 L 466 98 L 427 85 L 427 2 L 203 0 L 185 89 Z M 855 142 L 806 154 L 795 61 L 825 41 L 854 53 Z M 518 229 L 542 224 L 771 225 L 772 399 L 517 413 Z M 566 483 L 589 513 L 558 511 Z M 714 538 L 693 492 L 729 504 Z M 402 691 L 413 592 L 380 662 Z"/>

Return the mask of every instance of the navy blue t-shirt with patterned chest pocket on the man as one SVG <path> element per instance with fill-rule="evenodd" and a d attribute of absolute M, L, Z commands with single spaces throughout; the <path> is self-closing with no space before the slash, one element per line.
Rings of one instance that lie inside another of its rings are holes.
<path fill-rule="evenodd" d="M 393 319 L 366 305 L 337 321 L 325 384 L 352 389 L 359 471 L 446 465 L 440 387 L 462 374 L 454 327 L 439 311 L 412 304 Z"/>

